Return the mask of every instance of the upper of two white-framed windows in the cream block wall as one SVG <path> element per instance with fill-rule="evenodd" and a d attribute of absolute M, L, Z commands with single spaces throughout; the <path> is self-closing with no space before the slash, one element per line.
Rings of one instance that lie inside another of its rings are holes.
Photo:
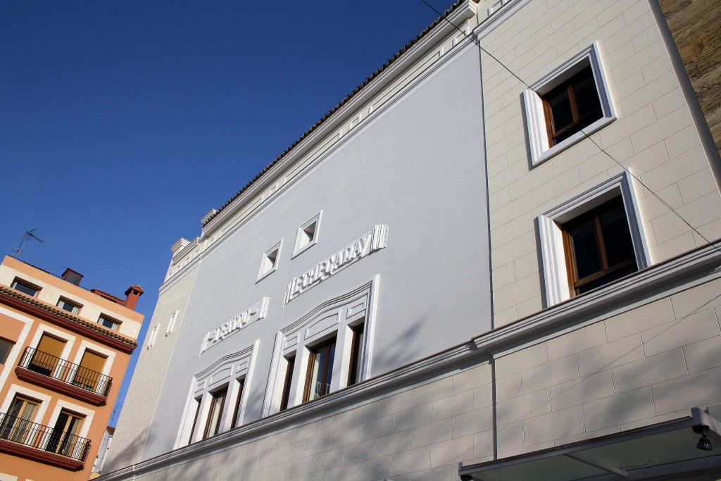
<path fill-rule="evenodd" d="M 531 163 L 567 149 L 616 119 L 593 43 L 523 91 Z"/>

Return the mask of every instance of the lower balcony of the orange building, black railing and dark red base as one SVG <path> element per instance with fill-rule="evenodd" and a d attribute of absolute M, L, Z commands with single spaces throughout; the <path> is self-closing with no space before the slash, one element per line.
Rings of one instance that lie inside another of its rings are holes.
<path fill-rule="evenodd" d="M 0 451 L 77 471 L 82 469 L 90 440 L 0 412 Z"/>

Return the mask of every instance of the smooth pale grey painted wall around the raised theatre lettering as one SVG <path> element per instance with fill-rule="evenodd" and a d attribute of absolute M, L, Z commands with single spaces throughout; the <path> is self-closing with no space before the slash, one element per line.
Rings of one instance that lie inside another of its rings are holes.
<path fill-rule="evenodd" d="M 350 133 L 309 175 L 204 253 L 143 459 L 173 449 L 193 375 L 255 340 L 260 345 L 245 387 L 244 421 L 260 418 L 275 334 L 375 275 L 370 376 L 490 329 L 481 105 L 479 57 L 476 49 L 466 49 Z M 298 226 L 319 211 L 317 244 L 291 260 Z M 388 247 L 282 308 L 293 277 L 376 224 L 389 225 Z M 256 282 L 262 252 L 280 239 L 278 270 Z M 263 296 L 271 298 L 266 319 L 198 356 L 209 330 Z"/>

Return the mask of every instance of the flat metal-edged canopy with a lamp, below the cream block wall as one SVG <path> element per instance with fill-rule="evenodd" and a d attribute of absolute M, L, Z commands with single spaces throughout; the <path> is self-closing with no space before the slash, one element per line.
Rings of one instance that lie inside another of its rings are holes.
<path fill-rule="evenodd" d="M 715 451 L 696 447 L 699 427 L 707 428 Z M 632 431 L 479 464 L 460 463 L 459 477 L 464 481 L 666 479 L 721 471 L 720 443 L 721 423 L 694 407 L 687 416 Z"/>

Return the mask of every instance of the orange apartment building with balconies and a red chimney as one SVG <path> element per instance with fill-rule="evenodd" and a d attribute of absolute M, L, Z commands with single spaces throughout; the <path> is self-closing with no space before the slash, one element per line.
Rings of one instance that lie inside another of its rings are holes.
<path fill-rule="evenodd" d="M 13 257 L 0 264 L 0 481 L 87 480 L 143 315 Z"/>

